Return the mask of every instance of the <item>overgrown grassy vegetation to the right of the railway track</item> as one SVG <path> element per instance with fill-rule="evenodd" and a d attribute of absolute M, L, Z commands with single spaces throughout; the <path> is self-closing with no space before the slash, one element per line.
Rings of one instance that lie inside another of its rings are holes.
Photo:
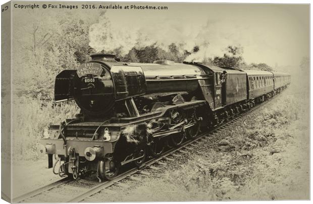
<path fill-rule="evenodd" d="M 308 104 L 291 92 L 219 133 L 229 148 L 199 145 L 165 171 L 87 201 L 308 199 Z"/>

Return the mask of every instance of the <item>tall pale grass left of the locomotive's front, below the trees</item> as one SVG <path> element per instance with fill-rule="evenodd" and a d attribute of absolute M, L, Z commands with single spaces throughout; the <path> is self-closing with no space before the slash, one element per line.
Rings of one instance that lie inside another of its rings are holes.
<path fill-rule="evenodd" d="M 37 147 L 45 129 L 79 112 L 74 102 L 42 105 L 40 100 L 26 97 L 14 97 L 13 107 L 13 160 L 37 160 Z"/>

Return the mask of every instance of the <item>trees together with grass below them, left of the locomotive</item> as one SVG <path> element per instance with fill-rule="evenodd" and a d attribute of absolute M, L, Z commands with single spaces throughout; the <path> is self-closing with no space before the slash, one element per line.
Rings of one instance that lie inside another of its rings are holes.
<path fill-rule="evenodd" d="M 29 14 L 27 23 L 14 21 L 13 50 L 18 56 L 13 60 L 14 159 L 37 159 L 44 129 L 79 112 L 75 102 L 55 106 L 54 81 L 61 70 L 76 69 L 89 60 L 92 19 L 62 13 L 43 15 L 39 21 L 37 16 Z"/>

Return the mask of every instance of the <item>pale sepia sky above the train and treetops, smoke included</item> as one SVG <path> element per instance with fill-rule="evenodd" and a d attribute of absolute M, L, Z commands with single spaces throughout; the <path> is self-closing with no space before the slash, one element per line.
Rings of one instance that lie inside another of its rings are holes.
<path fill-rule="evenodd" d="M 111 32 L 118 36 L 108 42 L 116 40 L 116 46 L 127 47 L 139 38 L 144 42 L 142 45 L 157 41 L 166 47 L 176 41 L 184 42 L 190 48 L 200 44 L 199 58 L 219 56 L 228 44 L 241 45 L 247 63 L 265 62 L 274 67 L 299 64 L 301 58 L 309 54 L 308 5 L 144 5 L 168 6 L 168 10 L 108 10 L 106 18 L 111 22 Z M 99 24 L 94 25 L 95 30 L 106 32 L 103 26 L 107 25 L 101 21 L 107 19 L 100 19 Z M 123 35 L 127 37 L 124 39 Z M 94 41 L 98 45 L 101 44 L 99 39 Z M 201 44 L 204 44 L 202 49 Z"/>

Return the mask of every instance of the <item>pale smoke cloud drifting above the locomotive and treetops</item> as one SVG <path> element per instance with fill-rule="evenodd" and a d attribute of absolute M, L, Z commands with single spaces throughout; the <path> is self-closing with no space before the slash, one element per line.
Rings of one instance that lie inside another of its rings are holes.
<path fill-rule="evenodd" d="M 121 55 L 127 54 L 133 47 L 142 48 L 152 44 L 168 51 L 169 45 L 175 43 L 179 45 L 179 51 L 189 52 L 197 45 L 199 51 L 185 60 L 202 61 L 205 57 L 223 56 L 229 45 L 239 46 L 242 38 L 239 29 L 228 22 L 209 20 L 200 26 L 186 26 L 177 20 L 142 27 L 120 26 L 114 19 L 101 16 L 99 22 L 90 27 L 89 45 L 97 52 L 115 52 L 119 49 Z"/>

